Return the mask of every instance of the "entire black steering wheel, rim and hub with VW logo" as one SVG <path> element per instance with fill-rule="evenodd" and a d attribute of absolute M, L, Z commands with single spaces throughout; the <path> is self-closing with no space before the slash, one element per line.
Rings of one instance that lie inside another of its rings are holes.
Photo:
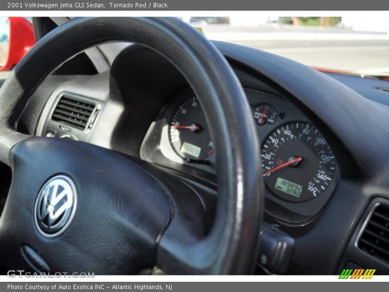
<path fill-rule="evenodd" d="M 55 68 L 112 41 L 165 56 L 198 96 L 217 149 L 210 231 L 202 226 L 195 190 L 166 170 L 99 146 L 16 131 L 32 93 Z M 254 123 L 226 59 L 189 25 L 176 18 L 73 19 L 18 63 L 0 89 L 0 104 L 0 161 L 12 169 L 0 218 L 0 265 L 95 274 L 153 267 L 167 274 L 252 271 L 263 200 Z"/>

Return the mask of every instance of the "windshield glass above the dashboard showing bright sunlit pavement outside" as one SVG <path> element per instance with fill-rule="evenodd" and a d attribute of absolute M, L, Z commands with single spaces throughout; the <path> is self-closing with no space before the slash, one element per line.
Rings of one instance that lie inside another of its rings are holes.
<path fill-rule="evenodd" d="M 322 71 L 389 76 L 389 18 L 186 17 L 206 37 L 281 55 Z"/>

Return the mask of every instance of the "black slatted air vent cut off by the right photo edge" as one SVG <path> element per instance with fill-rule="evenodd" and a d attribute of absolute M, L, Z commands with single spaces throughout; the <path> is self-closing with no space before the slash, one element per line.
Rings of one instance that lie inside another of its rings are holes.
<path fill-rule="evenodd" d="M 364 224 L 358 247 L 371 256 L 389 262 L 389 205 L 374 206 Z"/>

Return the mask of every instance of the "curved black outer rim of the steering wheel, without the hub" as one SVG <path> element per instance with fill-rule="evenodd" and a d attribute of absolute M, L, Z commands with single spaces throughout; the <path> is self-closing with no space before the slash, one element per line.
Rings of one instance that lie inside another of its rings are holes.
<path fill-rule="evenodd" d="M 250 273 L 259 243 L 264 193 L 250 108 L 225 58 L 205 37 L 176 18 L 77 18 L 43 37 L 0 89 L 4 105 L 0 161 L 14 171 L 13 149 L 32 139 L 15 129 L 36 87 L 73 55 L 112 41 L 147 46 L 183 73 L 211 125 L 217 149 L 219 196 L 211 232 L 201 240 L 185 242 L 177 240 L 170 228 L 174 224 L 170 224 L 159 241 L 158 264 L 173 274 Z"/>

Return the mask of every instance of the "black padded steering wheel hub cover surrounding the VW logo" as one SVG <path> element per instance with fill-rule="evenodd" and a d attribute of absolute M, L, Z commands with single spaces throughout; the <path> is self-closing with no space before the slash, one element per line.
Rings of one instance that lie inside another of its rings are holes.
<path fill-rule="evenodd" d="M 138 274 L 155 265 L 170 203 L 163 184 L 141 166 L 98 146 L 30 138 L 13 148 L 12 168 L 10 196 L 0 219 L 3 265 L 23 267 L 24 244 L 52 272 Z M 48 238 L 38 233 L 34 206 L 43 183 L 56 174 L 73 179 L 78 201 L 70 227 Z"/>

